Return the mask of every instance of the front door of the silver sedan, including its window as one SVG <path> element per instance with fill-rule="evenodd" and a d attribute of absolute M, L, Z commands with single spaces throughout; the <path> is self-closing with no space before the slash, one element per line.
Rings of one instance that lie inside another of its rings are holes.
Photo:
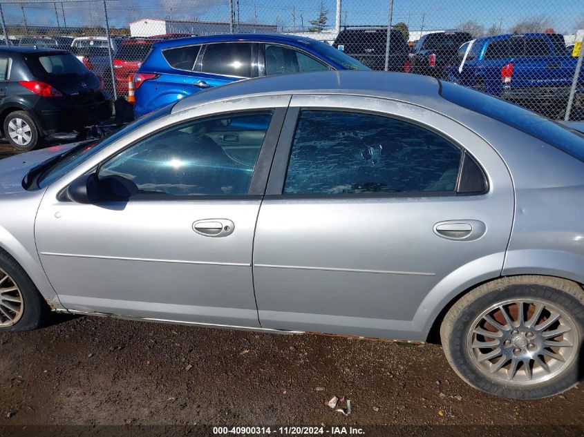
<path fill-rule="evenodd" d="M 229 113 L 211 104 L 168 115 L 50 184 L 35 237 L 63 306 L 258 327 L 252 240 L 289 100 L 236 100 Z M 68 184 L 93 171 L 102 184 L 129 179 L 138 193 L 68 201 Z"/>

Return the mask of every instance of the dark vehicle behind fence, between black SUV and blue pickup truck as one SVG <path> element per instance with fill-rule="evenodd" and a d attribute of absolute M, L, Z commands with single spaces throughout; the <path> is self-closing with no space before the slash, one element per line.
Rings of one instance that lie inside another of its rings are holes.
<path fill-rule="evenodd" d="M 435 32 L 421 37 L 410 55 L 411 72 L 442 78 L 455 63 L 458 48 L 473 39 L 468 32 Z"/>

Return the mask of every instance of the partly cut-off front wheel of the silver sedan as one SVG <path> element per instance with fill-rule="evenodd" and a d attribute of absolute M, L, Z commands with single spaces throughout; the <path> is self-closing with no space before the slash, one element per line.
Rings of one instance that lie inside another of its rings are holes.
<path fill-rule="evenodd" d="M 0 249 L 0 332 L 36 329 L 49 312 L 26 272 Z"/>

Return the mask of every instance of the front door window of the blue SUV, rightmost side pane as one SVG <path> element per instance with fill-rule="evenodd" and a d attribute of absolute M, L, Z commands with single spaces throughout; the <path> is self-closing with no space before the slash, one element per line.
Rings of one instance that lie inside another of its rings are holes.
<path fill-rule="evenodd" d="M 326 71 L 328 66 L 290 47 L 265 45 L 265 74 Z"/>

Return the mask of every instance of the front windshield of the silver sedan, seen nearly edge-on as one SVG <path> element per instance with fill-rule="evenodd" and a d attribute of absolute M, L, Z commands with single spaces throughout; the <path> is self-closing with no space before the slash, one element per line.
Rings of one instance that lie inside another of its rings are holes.
<path fill-rule="evenodd" d="M 168 115 L 172 107 L 173 104 L 162 106 L 162 108 L 154 111 L 153 113 L 142 115 L 142 117 L 134 120 L 130 124 L 127 124 L 108 137 L 97 140 L 95 143 L 90 142 L 88 144 L 84 142 L 83 144 L 68 150 L 68 152 L 64 153 L 59 159 L 57 159 L 57 161 L 53 162 L 53 164 L 51 164 L 48 168 L 44 169 L 43 173 L 41 173 L 39 176 L 37 185 L 39 188 L 45 188 L 46 186 L 52 184 L 57 179 L 59 179 L 59 177 L 62 177 L 73 168 L 84 162 L 88 157 L 93 156 L 104 147 L 109 146 L 109 144 L 117 141 L 117 139 L 120 139 L 126 135 L 126 133 L 131 132 L 131 130 L 139 128 L 140 126 L 151 122 L 153 119 Z"/>

